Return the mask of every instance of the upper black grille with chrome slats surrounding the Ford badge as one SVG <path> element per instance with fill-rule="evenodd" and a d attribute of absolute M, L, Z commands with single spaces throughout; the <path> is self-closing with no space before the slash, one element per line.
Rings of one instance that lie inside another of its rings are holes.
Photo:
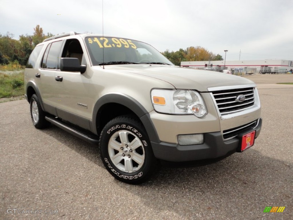
<path fill-rule="evenodd" d="M 212 91 L 212 94 L 222 115 L 242 111 L 254 105 L 253 87 Z M 235 101 L 239 95 L 245 96 L 243 102 Z"/>

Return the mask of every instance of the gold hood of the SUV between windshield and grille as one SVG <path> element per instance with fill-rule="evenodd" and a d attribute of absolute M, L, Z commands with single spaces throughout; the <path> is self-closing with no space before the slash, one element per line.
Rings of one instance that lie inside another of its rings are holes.
<path fill-rule="evenodd" d="M 176 89 L 195 89 L 199 92 L 207 92 L 209 87 L 255 84 L 235 75 L 178 66 L 135 64 L 108 65 L 105 68 L 153 77 L 172 84 Z"/>

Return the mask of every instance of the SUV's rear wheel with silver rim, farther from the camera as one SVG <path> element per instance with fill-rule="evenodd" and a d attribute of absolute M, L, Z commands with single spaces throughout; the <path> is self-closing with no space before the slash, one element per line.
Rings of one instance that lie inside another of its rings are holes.
<path fill-rule="evenodd" d="M 45 112 L 43 111 L 40 100 L 36 94 L 33 94 L 30 99 L 30 116 L 33 125 L 38 129 L 46 128 L 50 124 L 45 119 Z"/>

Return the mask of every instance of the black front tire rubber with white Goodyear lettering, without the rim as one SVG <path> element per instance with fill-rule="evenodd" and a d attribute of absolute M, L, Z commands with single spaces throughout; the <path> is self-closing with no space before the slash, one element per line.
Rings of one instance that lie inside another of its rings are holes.
<path fill-rule="evenodd" d="M 133 133 L 142 143 L 142 147 L 144 148 L 144 163 L 139 170 L 127 173 L 119 170 L 111 161 L 109 152 L 108 152 L 108 143 L 112 135 L 117 131 L 130 131 Z M 149 175 L 151 175 L 153 170 L 153 163 L 154 163 L 154 154 L 151 149 L 151 143 L 147 136 L 147 133 L 143 129 L 142 125 L 137 123 L 136 121 L 132 121 L 131 119 L 122 119 L 122 117 L 118 117 L 110 121 L 104 128 L 100 136 L 100 151 L 101 151 L 101 158 L 102 161 L 108 170 L 116 179 L 137 184 L 144 182 Z"/>

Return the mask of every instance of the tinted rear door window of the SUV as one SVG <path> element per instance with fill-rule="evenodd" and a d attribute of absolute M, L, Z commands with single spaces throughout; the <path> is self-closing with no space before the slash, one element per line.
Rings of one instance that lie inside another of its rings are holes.
<path fill-rule="evenodd" d="M 56 41 L 48 45 L 45 55 L 43 57 L 42 67 L 46 69 L 59 69 L 58 61 L 60 56 L 60 50 L 62 47 L 63 41 Z M 49 50 L 49 52 L 48 52 Z"/>

